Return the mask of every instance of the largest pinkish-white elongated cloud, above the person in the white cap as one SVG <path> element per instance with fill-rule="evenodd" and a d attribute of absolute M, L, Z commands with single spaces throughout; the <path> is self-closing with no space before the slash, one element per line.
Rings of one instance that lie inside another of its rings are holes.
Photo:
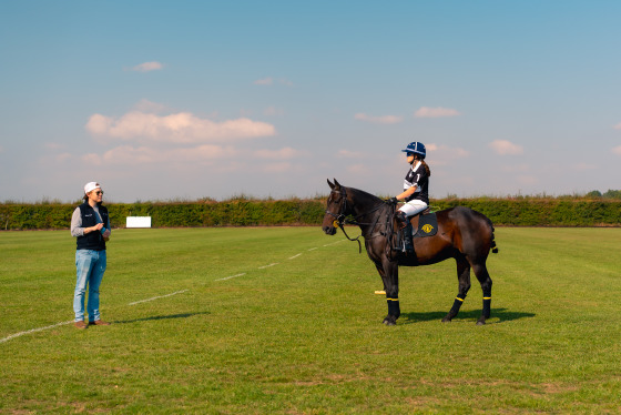
<path fill-rule="evenodd" d="M 119 119 L 93 114 L 85 128 L 92 134 L 100 136 L 167 143 L 220 142 L 269 136 L 276 133 L 274 125 L 247 118 L 215 122 L 189 112 L 160 117 L 132 111 Z"/>

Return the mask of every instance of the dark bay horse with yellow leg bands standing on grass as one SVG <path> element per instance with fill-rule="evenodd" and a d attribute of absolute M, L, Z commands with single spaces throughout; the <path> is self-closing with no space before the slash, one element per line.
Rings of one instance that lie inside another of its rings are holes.
<path fill-rule="evenodd" d="M 396 237 L 393 230 L 397 229 L 394 222 L 394 205 L 362 190 L 342 186 L 336 179 L 334 183 L 328 180 L 328 184 L 332 192 L 322 227 L 326 234 L 334 235 L 336 227 L 343 230 L 343 224 L 349 217 L 353 219 L 349 223 L 360 226 L 367 254 L 377 267 L 386 291 L 388 315 L 384 318 L 384 324 L 395 325 L 400 315 L 399 265 L 429 265 L 449 257 L 457 262 L 459 290 L 442 322 L 450 322 L 459 312 L 470 290 L 472 269 L 483 292 L 482 313 L 477 324 L 486 323 L 491 306 L 491 279 L 486 261 L 490 250 L 498 252 L 493 241 L 493 225 L 487 216 L 462 206 L 438 211 L 436 235 L 415 237 L 415 254 L 406 255 L 391 247 Z"/>

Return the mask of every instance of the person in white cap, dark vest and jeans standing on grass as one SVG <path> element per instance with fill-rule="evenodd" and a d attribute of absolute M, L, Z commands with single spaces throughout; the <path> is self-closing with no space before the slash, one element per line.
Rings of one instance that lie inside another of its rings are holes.
<path fill-rule="evenodd" d="M 75 327 L 86 328 L 84 321 L 84 298 L 89 286 L 89 324 L 110 325 L 99 313 L 99 286 L 105 272 L 105 242 L 111 227 L 108 209 L 103 206 L 103 191 L 96 182 L 84 185 L 84 203 L 75 208 L 71 217 L 71 235 L 77 237 L 75 269 L 78 277 L 73 294 Z"/>

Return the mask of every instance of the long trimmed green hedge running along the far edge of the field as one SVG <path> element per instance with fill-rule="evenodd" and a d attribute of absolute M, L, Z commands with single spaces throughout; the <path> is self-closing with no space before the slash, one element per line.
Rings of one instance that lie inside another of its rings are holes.
<path fill-rule="evenodd" d="M 496 225 L 510 226 L 621 226 L 621 201 L 589 200 L 432 200 L 447 209 L 468 206 Z M 126 216 L 151 216 L 154 227 L 319 225 L 323 200 L 227 201 L 171 203 L 112 203 L 106 205 L 113 227 L 124 227 Z M 0 204 L 0 229 L 69 229 L 75 205 Z"/>

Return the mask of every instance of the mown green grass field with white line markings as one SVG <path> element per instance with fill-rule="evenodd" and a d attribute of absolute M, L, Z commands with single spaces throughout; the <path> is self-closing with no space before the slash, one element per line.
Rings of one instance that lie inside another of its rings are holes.
<path fill-rule="evenodd" d="M 486 326 L 474 276 L 440 322 L 446 261 L 400 270 L 387 327 L 375 267 L 340 232 L 118 230 L 113 325 L 78 331 L 69 231 L 1 232 L 0 413 L 619 413 L 621 229 L 496 240 Z"/>

